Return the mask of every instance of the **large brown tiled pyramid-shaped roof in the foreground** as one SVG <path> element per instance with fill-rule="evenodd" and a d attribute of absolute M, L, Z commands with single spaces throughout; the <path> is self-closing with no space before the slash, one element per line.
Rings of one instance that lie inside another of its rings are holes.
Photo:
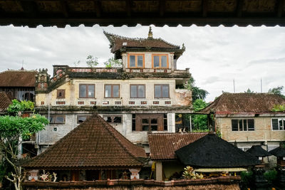
<path fill-rule="evenodd" d="M 123 137 L 97 114 L 78 125 L 56 144 L 24 164 L 27 168 L 142 167 L 145 150 Z"/>

